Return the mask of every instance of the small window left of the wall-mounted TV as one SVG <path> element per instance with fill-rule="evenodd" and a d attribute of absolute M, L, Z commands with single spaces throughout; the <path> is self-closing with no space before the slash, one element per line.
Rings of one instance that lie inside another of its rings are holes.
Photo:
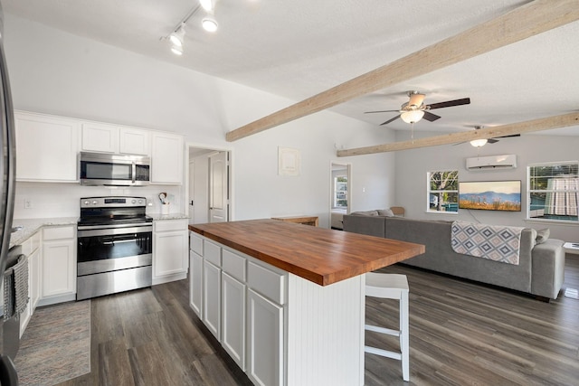
<path fill-rule="evenodd" d="M 459 171 L 429 172 L 427 212 L 459 212 Z"/>

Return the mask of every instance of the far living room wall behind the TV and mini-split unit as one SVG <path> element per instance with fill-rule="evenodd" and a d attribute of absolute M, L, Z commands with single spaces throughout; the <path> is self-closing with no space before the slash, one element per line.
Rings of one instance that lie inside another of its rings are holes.
<path fill-rule="evenodd" d="M 428 124 L 428 123 L 426 123 Z M 548 132 L 545 132 L 545 134 Z M 444 133 L 426 133 L 430 136 Z M 416 137 L 424 137 L 419 132 Z M 397 140 L 408 139 L 408 134 L 397 133 Z M 579 137 L 525 135 L 501 138 L 496 144 L 477 149 L 470 144 L 433 146 L 406 150 L 396 153 L 395 197 L 398 205 L 406 208 L 406 217 L 428 220 L 480 221 L 484 223 L 524 226 L 536 230 L 549 228 L 551 237 L 566 241 L 579 240 L 577 225 L 561 225 L 555 222 L 526 221 L 527 216 L 527 165 L 552 161 L 574 161 L 579 158 Z M 477 155 L 517 155 L 517 168 L 498 171 L 468 171 L 465 158 Z M 461 181 L 500 181 L 520 180 L 522 182 L 522 212 L 492 212 L 460 210 L 458 214 L 439 214 L 426 212 L 426 174 L 436 170 L 459 170 Z"/>

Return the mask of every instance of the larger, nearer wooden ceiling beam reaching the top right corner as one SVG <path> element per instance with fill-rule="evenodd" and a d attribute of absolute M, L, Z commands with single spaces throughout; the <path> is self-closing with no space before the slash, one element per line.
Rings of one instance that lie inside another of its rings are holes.
<path fill-rule="evenodd" d="M 432 44 L 418 52 L 367 72 L 304 99 L 288 108 L 236 128 L 225 136 L 229 142 L 305 117 L 346 100 L 413 79 L 485 52 L 519 42 L 538 33 L 579 20 L 577 0 L 535 0 L 508 14 Z"/>

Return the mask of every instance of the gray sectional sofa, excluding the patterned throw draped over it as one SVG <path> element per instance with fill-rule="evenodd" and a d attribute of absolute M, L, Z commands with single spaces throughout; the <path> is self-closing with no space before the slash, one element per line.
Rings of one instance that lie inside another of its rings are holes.
<path fill-rule="evenodd" d="M 565 273 L 563 240 L 543 235 L 537 243 L 537 231 L 525 228 L 519 264 L 513 265 L 456 253 L 451 247 L 451 224 L 380 216 L 375 211 L 344 216 L 344 231 L 426 246 L 426 253 L 404 260 L 404 264 L 526 292 L 543 300 L 556 299 Z"/>

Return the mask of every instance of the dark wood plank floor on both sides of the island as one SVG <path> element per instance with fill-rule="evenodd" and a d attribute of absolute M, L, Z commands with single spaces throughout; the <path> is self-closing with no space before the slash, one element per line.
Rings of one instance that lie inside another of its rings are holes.
<path fill-rule="evenodd" d="M 550 303 L 402 265 L 410 285 L 411 385 L 578 385 L 579 255 Z M 188 306 L 186 280 L 91 301 L 91 372 L 62 385 L 251 384 Z M 397 304 L 366 317 L 395 327 Z M 385 348 L 397 339 L 367 333 Z M 403 385 L 400 362 L 365 354 L 365 384 Z M 333 385 L 332 385 L 333 386 Z"/>

